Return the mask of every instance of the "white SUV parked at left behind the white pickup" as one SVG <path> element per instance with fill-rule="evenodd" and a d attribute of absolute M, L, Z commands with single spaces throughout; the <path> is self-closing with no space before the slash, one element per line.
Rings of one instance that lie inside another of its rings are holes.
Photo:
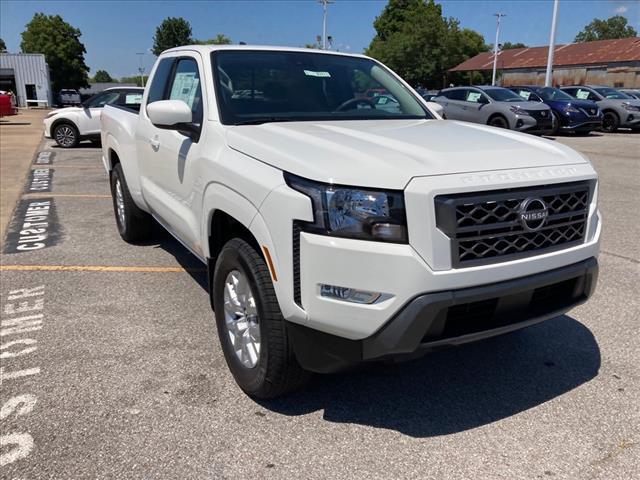
<path fill-rule="evenodd" d="M 100 140 L 100 115 L 105 105 L 135 107 L 142 101 L 143 88 L 108 88 L 87 99 L 79 107 L 53 110 L 44 118 L 44 136 L 62 148 L 72 148 L 81 140 Z"/>

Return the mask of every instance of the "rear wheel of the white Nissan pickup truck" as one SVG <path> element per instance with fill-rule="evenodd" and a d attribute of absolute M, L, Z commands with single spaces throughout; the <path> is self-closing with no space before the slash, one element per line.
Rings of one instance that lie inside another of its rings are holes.
<path fill-rule="evenodd" d="M 134 244 L 148 240 L 153 229 L 153 218 L 134 203 L 119 163 L 111 172 L 111 197 L 118 233 L 122 239 Z"/>

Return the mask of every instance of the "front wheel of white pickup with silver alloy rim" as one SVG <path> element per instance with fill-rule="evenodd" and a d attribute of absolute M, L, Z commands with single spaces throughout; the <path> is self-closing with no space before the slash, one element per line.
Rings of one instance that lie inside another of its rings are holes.
<path fill-rule="evenodd" d="M 227 242 L 211 295 L 225 360 L 247 395 L 274 398 L 309 379 L 295 358 L 271 275 L 255 248 L 239 238 Z"/>

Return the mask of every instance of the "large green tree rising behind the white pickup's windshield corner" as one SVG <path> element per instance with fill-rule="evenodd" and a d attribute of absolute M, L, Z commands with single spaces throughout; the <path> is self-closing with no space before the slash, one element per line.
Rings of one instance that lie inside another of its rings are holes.
<path fill-rule="evenodd" d="M 416 86 L 444 86 L 449 68 L 487 50 L 482 35 L 444 18 L 434 0 L 389 0 L 373 26 L 366 53 Z"/>

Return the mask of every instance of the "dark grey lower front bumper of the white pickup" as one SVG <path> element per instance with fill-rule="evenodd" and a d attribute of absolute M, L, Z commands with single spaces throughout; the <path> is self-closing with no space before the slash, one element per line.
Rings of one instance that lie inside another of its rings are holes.
<path fill-rule="evenodd" d="M 371 360 L 414 358 L 562 315 L 593 294 L 597 277 L 592 257 L 517 279 L 422 294 L 362 340 L 295 323 L 288 323 L 288 332 L 298 362 L 319 373 Z"/>

